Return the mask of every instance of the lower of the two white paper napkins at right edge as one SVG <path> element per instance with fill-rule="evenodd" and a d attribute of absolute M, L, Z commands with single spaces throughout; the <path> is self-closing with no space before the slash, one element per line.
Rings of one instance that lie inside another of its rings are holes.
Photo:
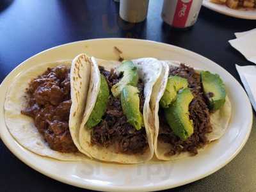
<path fill-rule="evenodd" d="M 256 66 L 248 65 L 241 67 L 236 65 L 236 69 L 248 93 L 253 109 L 256 111 Z"/>

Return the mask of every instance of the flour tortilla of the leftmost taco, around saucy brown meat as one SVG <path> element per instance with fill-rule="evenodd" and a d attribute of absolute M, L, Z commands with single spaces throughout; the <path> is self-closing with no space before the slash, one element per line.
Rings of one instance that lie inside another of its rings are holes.
<path fill-rule="evenodd" d="M 85 106 L 86 102 L 86 93 L 88 92 L 91 67 L 89 62 L 79 63 L 77 60 L 79 60 L 79 57 L 77 57 L 73 62 L 65 60 L 35 65 L 35 67 L 31 67 L 20 73 L 15 78 L 6 94 L 6 100 L 4 103 L 6 126 L 13 138 L 15 138 L 22 147 L 34 152 L 35 154 L 63 161 L 81 161 L 88 159 L 80 152 L 61 153 L 56 150 L 52 150 L 40 132 L 36 129 L 33 119 L 20 113 L 20 111 L 26 107 L 26 88 L 28 88 L 31 79 L 35 79 L 42 75 L 48 67 L 52 68 L 58 65 L 70 66 L 72 63 L 70 72 L 72 106 L 70 109 L 69 126 L 71 127 L 70 132 L 74 143 L 80 150 L 81 147 L 79 147 L 79 143 L 76 138 L 76 131 L 74 130 L 76 130 L 76 126 L 81 124 L 81 113 L 83 114 L 83 106 Z M 76 83 L 72 79 L 77 79 Z M 79 91 L 78 86 L 81 86 L 81 88 L 79 87 Z M 74 100 L 74 95 L 77 95 L 77 100 Z M 76 114 L 74 115 L 74 113 Z"/>

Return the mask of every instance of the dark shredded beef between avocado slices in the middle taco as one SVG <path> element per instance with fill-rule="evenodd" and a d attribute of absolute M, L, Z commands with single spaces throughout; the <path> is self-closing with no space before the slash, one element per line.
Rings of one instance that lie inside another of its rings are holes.
<path fill-rule="evenodd" d="M 122 78 L 122 74 L 117 75 L 113 70 L 108 72 L 100 67 L 100 72 L 106 77 L 109 90 Z M 139 81 L 141 113 L 144 104 L 143 87 L 143 82 Z M 113 146 L 116 152 L 125 154 L 143 154 L 148 148 L 145 128 L 142 127 L 140 131 L 137 131 L 127 122 L 127 118 L 122 112 L 120 99 L 113 97 L 113 95 L 109 97 L 106 115 L 102 117 L 100 124 L 92 129 L 92 145 L 106 148 Z"/>

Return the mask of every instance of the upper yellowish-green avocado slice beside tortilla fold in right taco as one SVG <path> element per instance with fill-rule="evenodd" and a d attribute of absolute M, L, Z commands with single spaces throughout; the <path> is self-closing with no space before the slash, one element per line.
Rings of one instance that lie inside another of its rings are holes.
<path fill-rule="evenodd" d="M 179 76 L 168 77 L 168 82 L 166 84 L 166 89 L 164 95 L 160 100 L 160 105 L 162 108 L 168 108 L 170 104 L 176 99 L 177 92 L 182 88 L 188 87 L 188 80 Z"/>

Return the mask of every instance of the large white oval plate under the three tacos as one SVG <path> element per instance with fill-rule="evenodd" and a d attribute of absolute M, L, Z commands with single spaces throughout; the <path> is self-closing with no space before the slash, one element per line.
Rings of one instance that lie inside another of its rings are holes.
<path fill-rule="evenodd" d="M 61 162 L 37 156 L 13 140 L 4 124 L 4 93 L 15 76 L 38 63 L 68 60 L 86 52 L 97 58 L 117 60 L 113 47 L 124 52 L 125 59 L 155 57 L 179 60 L 197 68 L 220 74 L 232 103 L 228 131 L 201 154 L 173 162 L 152 160 L 146 164 L 124 165 L 85 162 Z M 52 179 L 81 188 L 104 191 L 153 191 L 193 182 L 216 172 L 231 161 L 243 148 L 252 128 L 252 107 L 241 85 L 226 70 L 195 52 L 147 40 L 106 38 L 60 45 L 40 52 L 21 63 L 4 79 L 0 87 L 0 135 L 5 145 L 21 161 Z"/>

